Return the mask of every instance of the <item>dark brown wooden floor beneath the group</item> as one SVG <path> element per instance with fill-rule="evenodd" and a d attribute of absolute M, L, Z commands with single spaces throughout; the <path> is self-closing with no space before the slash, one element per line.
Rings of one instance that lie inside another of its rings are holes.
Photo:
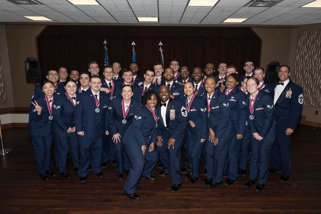
<path fill-rule="evenodd" d="M 247 175 L 239 176 L 233 186 L 209 189 L 201 184 L 206 178 L 201 175 L 195 184 L 183 178 L 180 191 L 171 193 L 170 175 L 159 176 L 161 169 L 156 167 L 155 181 L 140 181 L 139 201 L 123 196 L 126 174 L 118 180 L 117 166 L 110 162 L 101 179 L 91 171 L 87 182 L 80 183 L 69 161 L 71 179 L 57 175 L 41 181 L 27 129 L 2 133 L 4 147 L 13 151 L 0 155 L 0 213 L 321 213 L 321 132 L 310 126 L 299 125 L 292 136 L 288 183 L 278 181 L 280 173 L 269 175 L 264 191 L 258 193 L 255 186 L 244 188 Z M 55 163 L 52 169 L 59 173 Z"/>

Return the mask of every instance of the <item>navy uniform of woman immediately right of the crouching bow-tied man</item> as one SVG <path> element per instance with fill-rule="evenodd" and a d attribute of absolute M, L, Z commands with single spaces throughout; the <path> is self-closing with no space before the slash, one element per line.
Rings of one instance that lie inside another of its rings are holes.
<path fill-rule="evenodd" d="M 187 104 L 187 99 L 185 103 Z M 186 105 L 186 109 L 187 109 Z M 199 177 L 200 158 L 202 148 L 205 142 L 201 143 L 201 139 L 208 139 L 208 124 L 207 124 L 207 105 L 203 98 L 195 96 L 192 103 L 187 109 L 187 120 L 193 121 L 195 127 L 193 128 L 189 123 L 187 126 L 187 143 L 188 143 L 188 162 L 192 169 L 192 175 Z"/>

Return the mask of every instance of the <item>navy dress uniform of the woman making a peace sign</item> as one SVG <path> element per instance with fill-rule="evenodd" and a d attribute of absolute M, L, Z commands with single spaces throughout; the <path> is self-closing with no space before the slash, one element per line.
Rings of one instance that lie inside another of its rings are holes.
<path fill-rule="evenodd" d="M 51 130 L 52 120 L 49 119 L 50 113 L 45 95 L 40 96 L 38 99 L 32 99 L 32 102 L 35 103 L 35 100 L 38 105 L 42 107 L 42 111 L 41 114 L 38 115 L 35 107 L 31 104 L 33 107 L 31 108 L 31 114 L 29 115 L 30 134 L 38 171 L 40 174 L 45 174 L 45 171 L 51 170 L 50 162 L 52 157 L 53 140 Z"/>

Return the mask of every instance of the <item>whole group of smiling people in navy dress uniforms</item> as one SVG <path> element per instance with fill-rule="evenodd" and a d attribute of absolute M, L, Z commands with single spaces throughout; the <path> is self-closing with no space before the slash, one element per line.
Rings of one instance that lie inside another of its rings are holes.
<path fill-rule="evenodd" d="M 218 74 L 213 63 L 203 69 L 180 69 L 178 60 L 168 68 L 161 63 L 138 76 L 132 62 L 121 72 L 115 62 L 99 76 L 98 63 L 88 64 L 88 72 L 73 68 L 49 70 L 47 79 L 37 85 L 30 104 L 29 131 L 39 177 L 56 176 L 51 169 L 55 148 L 59 174 L 69 179 L 66 165 L 71 156 L 81 183 L 89 171 L 103 177 L 108 160 L 117 162 L 118 179 L 127 179 L 124 195 L 139 200 L 135 193 L 139 180 L 152 175 L 160 162 L 160 176 L 171 175 L 171 192 L 184 179 L 194 184 L 200 177 L 203 153 L 204 175 L 208 188 L 232 186 L 237 177 L 246 176 L 244 185 L 263 191 L 268 174 L 282 172 L 280 182 L 291 178 L 290 137 L 299 122 L 303 90 L 293 83 L 290 67 L 282 65 L 279 81 L 264 81 L 265 70 L 251 60 L 245 74 L 221 62 Z M 184 148 L 182 167 L 181 150 Z M 269 169 L 270 160 L 272 168 Z"/>

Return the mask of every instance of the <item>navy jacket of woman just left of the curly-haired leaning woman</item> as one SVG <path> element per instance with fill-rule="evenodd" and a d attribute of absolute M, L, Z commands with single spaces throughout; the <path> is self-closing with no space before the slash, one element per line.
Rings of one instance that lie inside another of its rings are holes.
<path fill-rule="evenodd" d="M 106 117 L 108 119 L 108 130 L 109 134 L 112 136 L 119 133 L 123 137 L 124 133 L 128 129 L 129 125 L 133 122 L 134 110 L 140 106 L 140 103 L 134 99 L 131 99 L 129 110 L 126 115 L 126 123 L 123 124 L 123 108 L 122 108 L 122 97 L 117 97 L 113 99 L 108 107 L 108 113 Z M 156 123 L 155 123 L 156 124 Z"/>

